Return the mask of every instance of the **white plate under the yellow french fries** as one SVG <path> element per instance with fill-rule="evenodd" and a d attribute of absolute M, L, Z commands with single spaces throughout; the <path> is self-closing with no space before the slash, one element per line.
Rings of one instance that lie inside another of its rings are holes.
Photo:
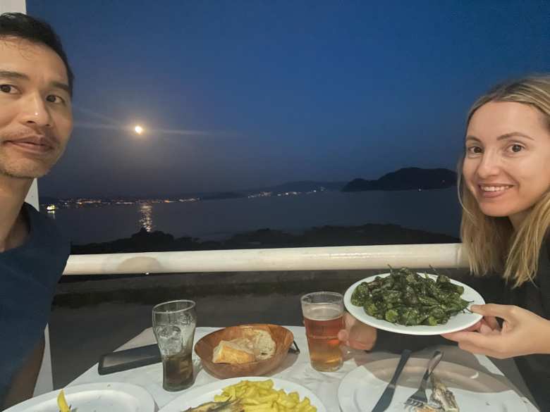
<path fill-rule="evenodd" d="M 276 390 L 284 389 L 287 394 L 291 392 L 298 392 L 300 395 L 300 400 L 304 397 L 310 398 L 310 402 L 313 406 L 317 408 L 317 412 L 326 412 L 326 409 L 322 402 L 317 398 L 310 389 L 298 385 L 297 383 L 290 382 L 288 380 L 277 379 L 275 377 L 264 377 L 264 376 L 245 376 L 245 377 L 231 377 L 231 379 L 219 380 L 217 382 L 212 382 L 207 385 L 202 385 L 195 389 L 191 389 L 185 394 L 177 397 L 169 404 L 161 408 L 159 412 L 181 412 L 185 411 L 188 408 L 195 408 L 205 402 L 214 401 L 214 395 L 221 394 L 221 389 L 228 387 L 229 385 L 235 385 L 241 380 L 268 380 L 273 381 L 273 387 Z M 78 411 L 80 412 L 80 411 Z"/>

